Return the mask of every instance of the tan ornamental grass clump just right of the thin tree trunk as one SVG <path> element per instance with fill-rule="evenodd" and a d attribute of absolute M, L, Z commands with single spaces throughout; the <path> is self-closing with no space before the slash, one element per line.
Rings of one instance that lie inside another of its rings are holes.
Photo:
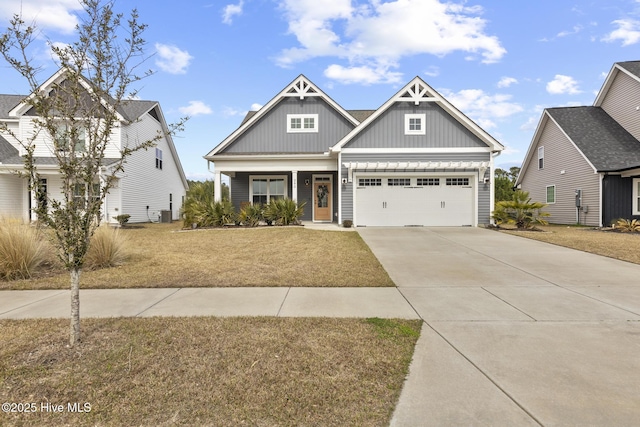
<path fill-rule="evenodd" d="M 91 237 L 85 259 L 87 268 L 107 268 L 122 265 L 127 259 L 126 242 L 120 230 L 102 225 Z"/>

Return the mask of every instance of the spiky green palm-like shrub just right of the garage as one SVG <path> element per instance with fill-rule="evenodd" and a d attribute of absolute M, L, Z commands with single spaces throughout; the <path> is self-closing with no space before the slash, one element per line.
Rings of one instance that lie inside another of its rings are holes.
<path fill-rule="evenodd" d="M 511 200 L 504 200 L 496 203 L 496 209 L 491 217 L 500 224 L 515 224 L 519 229 L 532 228 L 533 224 L 547 225 L 544 219 L 550 216 L 543 212 L 547 205 L 541 202 L 532 202 L 529 193 L 518 190 L 513 193 Z"/>

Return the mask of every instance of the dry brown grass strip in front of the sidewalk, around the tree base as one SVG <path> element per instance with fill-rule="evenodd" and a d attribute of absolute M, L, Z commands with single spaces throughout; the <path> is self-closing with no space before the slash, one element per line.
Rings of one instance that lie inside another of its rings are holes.
<path fill-rule="evenodd" d="M 68 320 L 3 320 L 0 402 L 35 413 L 0 425 L 386 426 L 420 324 L 86 319 L 70 349 Z"/>

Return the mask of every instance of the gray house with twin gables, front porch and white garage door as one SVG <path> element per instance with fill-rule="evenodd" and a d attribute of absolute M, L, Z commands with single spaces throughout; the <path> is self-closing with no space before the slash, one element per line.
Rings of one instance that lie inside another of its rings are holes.
<path fill-rule="evenodd" d="M 477 226 L 503 148 L 419 77 L 377 110 L 347 111 L 300 75 L 205 159 L 236 209 L 287 197 L 307 221 Z"/>

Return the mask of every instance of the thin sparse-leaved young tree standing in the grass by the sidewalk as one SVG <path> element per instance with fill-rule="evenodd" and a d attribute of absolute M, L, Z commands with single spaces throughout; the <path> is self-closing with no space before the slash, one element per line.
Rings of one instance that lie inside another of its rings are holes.
<path fill-rule="evenodd" d="M 24 103 L 30 109 L 34 131 L 24 136 L 6 125 L 0 130 L 10 133 L 23 147 L 21 173 L 36 194 L 33 210 L 38 223 L 51 230 L 58 256 L 70 273 L 71 346 L 80 342 L 80 275 L 104 199 L 117 174 L 124 171 L 127 158 L 153 147 L 165 136 L 158 133 L 150 140 L 123 141 L 115 147 L 119 155 L 107 158 L 108 150 L 114 149 L 112 134 L 126 124 L 120 111 L 136 96 L 132 85 L 152 74 L 139 72 L 146 59 L 142 39 L 146 25 L 138 22 L 136 10 L 126 20 L 115 13 L 114 1 L 80 0 L 80 4 L 83 11 L 76 26 L 77 41 L 63 47 L 49 42 L 60 71 L 55 79 L 49 79 L 46 91 L 30 56 L 30 46 L 38 35 L 36 25 L 27 25 L 15 15 L 0 35 L 0 52 L 29 84 L 31 94 Z M 166 132 L 181 130 L 184 120 Z M 53 142 L 52 157 L 62 180 L 59 199 L 47 199 L 39 185 L 42 165 L 35 150 L 43 135 Z"/>

